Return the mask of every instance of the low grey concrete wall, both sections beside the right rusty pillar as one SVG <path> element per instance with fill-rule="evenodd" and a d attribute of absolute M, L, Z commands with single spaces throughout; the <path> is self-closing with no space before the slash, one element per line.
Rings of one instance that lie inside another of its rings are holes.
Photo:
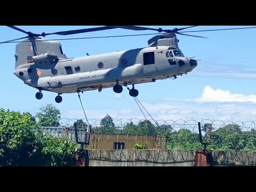
<path fill-rule="evenodd" d="M 89 166 L 195 166 L 196 151 L 88 150 Z M 256 152 L 214 151 L 215 166 L 256 166 Z"/>

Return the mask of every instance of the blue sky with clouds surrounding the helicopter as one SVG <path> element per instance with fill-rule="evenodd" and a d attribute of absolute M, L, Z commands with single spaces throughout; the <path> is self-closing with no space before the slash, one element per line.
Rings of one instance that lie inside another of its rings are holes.
<path fill-rule="evenodd" d="M 50 33 L 95 26 L 18 26 L 34 33 Z M 172 29 L 184 26 L 148 26 Z M 241 26 L 198 26 L 191 30 L 235 28 Z M 242 26 L 247 27 L 247 26 Z M 176 80 L 160 80 L 140 84 L 139 100 L 147 107 L 153 118 L 164 120 L 201 118 L 221 120 L 256 120 L 256 29 L 195 32 L 208 39 L 178 35 L 179 46 L 185 56 L 202 59 L 198 67 L 188 75 Z M 21 32 L 0 26 L 0 41 L 23 37 Z M 112 36 L 152 33 L 113 29 L 66 36 L 48 36 L 45 39 Z M 60 41 L 64 53 L 72 57 L 129 50 L 147 46 L 149 36 L 85 39 Z M 63 102 L 56 104 L 56 94 L 44 92 L 42 100 L 36 100 L 37 90 L 26 86 L 12 73 L 15 66 L 14 44 L 0 44 L 1 94 L 0 108 L 35 114 L 48 103 L 56 105 L 62 118 L 83 118 L 77 94 L 62 95 Z M 81 96 L 88 118 L 103 118 L 107 113 L 114 118 L 143 118 L 128 90 L 120 95 L 112 89 L 84 92 Z"/>

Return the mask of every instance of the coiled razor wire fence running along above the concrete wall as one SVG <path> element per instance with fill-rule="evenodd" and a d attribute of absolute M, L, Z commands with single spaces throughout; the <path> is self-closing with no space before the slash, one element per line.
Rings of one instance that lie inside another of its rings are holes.
<path fill-rule="evenodd" d="M 74 123 L 77 123 L 78 138 L 86 138 L 85 119 L 63 118 L 58 122 L 44 122 L 39 128 L 44 133 L 57 137 L 68 135 L 75 140 Z M 196 149 L 202 147 L 196 120 L 146 120 L 138 118 L 89 119 L 92 126 L 90 143 L 92 148 L 113 148 L 113 142 L 125 142 L 130 147 L 143 144 L 157 149 Z M 202 119 L 202 137 L 210 148 L 256 150 L 256 121 L 223 121 Z"/>

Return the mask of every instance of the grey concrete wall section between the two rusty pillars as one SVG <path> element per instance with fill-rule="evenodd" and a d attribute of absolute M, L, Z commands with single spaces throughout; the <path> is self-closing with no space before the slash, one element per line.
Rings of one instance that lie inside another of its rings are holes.
<path fill-rule="evenodd" d="M 88 150 L 89 166 L 194 166 L 195 151 Z"/>

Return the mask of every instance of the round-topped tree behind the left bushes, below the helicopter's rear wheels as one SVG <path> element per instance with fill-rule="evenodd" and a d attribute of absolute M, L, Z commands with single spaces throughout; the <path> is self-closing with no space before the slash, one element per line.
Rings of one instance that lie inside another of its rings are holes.
<path fill-rule="evenodd" d="M 40 112 L 36 113 L 38 123 L 41 126 L 60 126 L 60 110 L 52 104 L 47 104 L 40 108 Z"/>

